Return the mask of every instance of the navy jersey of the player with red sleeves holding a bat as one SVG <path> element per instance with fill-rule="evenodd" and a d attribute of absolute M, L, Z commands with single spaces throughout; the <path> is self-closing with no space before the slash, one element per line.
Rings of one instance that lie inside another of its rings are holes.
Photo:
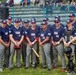
<path fill-rule="evenodd" d="M 39 26 L 36 26 L 35 30 L 32 30 L 31 27 L 29 27 L 27 35 L 31 42 L 33 42 L 37 37 L 39 37 Z"/>

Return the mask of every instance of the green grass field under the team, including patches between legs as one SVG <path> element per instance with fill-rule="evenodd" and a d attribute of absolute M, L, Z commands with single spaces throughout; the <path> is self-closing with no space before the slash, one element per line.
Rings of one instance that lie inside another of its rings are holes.
<path fill-rule="evenodd" d="M 14 64 L 15 64 L 15 56 L 14 56 Z M 67 75 L 66 72 L 61 72 L 61 60 L 59 59 L 59 67 L 57 69 L 52 69 L 51 71 L 47 71 L 46 69 L 41 68 L 41 56 L 40 56 L 40 65 L 37 66 L 36 69 L 33 69 L 31 66 L 29 69 L 24 69 L 23 63 L 21 68 L 17 68 L 14 66 L 13 70 L 9 70 L 8 68 L 4 68 L 3 72 L 0 72 L 0 75 Z M 76 75 L 76 74 L 74 74 Z"/>

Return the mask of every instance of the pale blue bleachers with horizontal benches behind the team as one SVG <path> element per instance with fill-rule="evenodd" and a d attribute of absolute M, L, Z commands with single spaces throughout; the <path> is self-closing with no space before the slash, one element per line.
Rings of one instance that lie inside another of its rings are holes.
<path fill-rule="evenodd" d="M 24 19 L 28 19 L 30 20 L 32 17 L 35 17 L 37 20 L 37 24 L 40 25 L 41 22 L 43 21 L 43 19 L 45 17 L 49 18 L 49 22 L 50 24 L 54 24 L 54 17 L 55 16 L 60 16 L 61 17 L 61 22 L 63 24 L 66 24 L 66 20 L 69 18 L 68 15 L 70 13 L 75 13 L 76 11 L 74 11 L 76 9 L 75 5 L 75 9 L 71 8 L 72 6 L 67 5 L 65 8 L 63 6 L 61 6 L 60 4 L 58 5 L 54 5 L 51 4 L 50 8 L 51 10 L 48 11 L 46 6 L 14 6 L 14 7 L 9 7 L 9 15 L 13 17 L 13 22 L 15 18 L 22 18 L 22 20 Z M 65 10 L 64 10 L 65 9 Z"/>

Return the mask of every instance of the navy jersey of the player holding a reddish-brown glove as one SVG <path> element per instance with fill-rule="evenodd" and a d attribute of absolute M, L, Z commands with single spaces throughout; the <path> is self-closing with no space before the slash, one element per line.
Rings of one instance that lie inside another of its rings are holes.
<path fill-rule="evenodd" d="M 13 27 L 13 28 L 10 29 L 9 34 L 13 35 L 14 40 L 20 40 L 22 35 L 24 35 L 24 32 L 20 27 L 19 28 Z"/>

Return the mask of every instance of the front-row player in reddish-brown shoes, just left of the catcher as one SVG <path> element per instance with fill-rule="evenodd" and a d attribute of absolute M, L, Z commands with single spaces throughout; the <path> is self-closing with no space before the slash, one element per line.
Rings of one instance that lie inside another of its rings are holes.
<path fill-rule="evenodd" d="M 63 46 L 63 35 L 64 35 L 64 28 L 60 25 L 60 19 L 56 18 L 54 20 L 55 26 L 53 26 L 52 31 L 52 45 L 53 45 L 53 68 L 58 67 L 58 54 L 60 55 L 62 61 L 62 72 L 65 72 L 66 63 L 64 57 L 64 46 Z"/>

